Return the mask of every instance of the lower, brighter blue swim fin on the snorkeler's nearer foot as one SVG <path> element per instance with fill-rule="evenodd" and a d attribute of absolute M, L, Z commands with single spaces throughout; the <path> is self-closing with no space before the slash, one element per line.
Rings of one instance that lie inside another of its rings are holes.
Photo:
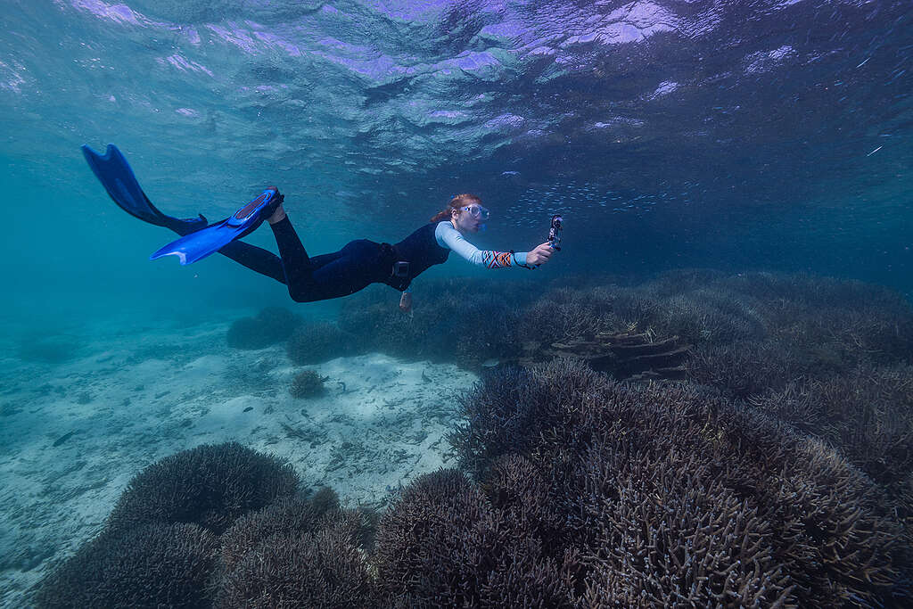
<path fill-rule="evenodd" d="M 226 247 L 235 239 L 240 239 L 253 232 L 273 212 L 284 197 L 279 194 L 276 186 L 269 186 L 256 199 L 237 210 L 226 220 L 206 226 L 205 228 L 182 236 L 180 239 L 169 243 L 158 250 L 150 260 L 163 256 L 176 256 L 181 259 L 181 264 L 193 264 L 197 260 L 215 254 L 222 247 Z"/>

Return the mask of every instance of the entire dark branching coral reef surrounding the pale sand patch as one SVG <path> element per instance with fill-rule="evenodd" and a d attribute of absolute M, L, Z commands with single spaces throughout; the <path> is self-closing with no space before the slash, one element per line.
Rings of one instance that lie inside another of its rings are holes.
<path fill-rule="evenodd" d="M 229 343 L 456 362 L 460 467 L 344 508 L 200 446 L 132 479 L 40 607 L 911 606 L 913 310 L 857 282 L 428 281 Z M 495 362 L 495 363 L 492 363 Z M 484 364 L 484 365 L 483 365 Z M 293 393 L 320 391 L 315 373 Z"/>

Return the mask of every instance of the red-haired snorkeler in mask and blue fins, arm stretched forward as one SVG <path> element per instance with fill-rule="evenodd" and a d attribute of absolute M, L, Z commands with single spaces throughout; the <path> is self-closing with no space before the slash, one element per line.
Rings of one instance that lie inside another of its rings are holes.
<path fill-rule="evenodd" d="M 444 263 L 451 251 L 486 268 L 535 268 L 548 262 L 554 249 L 551 241 L 530 252 L 477 249 L 464 236 L 484 228 L 488 209 L 474 194 L 457 194 L 429 224 L 399 243 L 358 239 L 338 252 L 309 257 L 282 207 L 284 197 L 275 187 L 269 187 L 225 220 L 207 226 L 203 215 L 180 219 L 160 212 L 142 192 L 127 160 L 113 144 L 103 155 L 85 145 L 82 152 L 114 203 L 144 222 L 164 226 L 182 236 L 152 254 L 152 259 L 174 255 L 181 258 L 182 264 L 190 264 L 217 251 L 285 284 L 296 302 L 336 299 L 372 283 L 384 283 L 403 292 L 400 310 L 408 311 L 412 309 L 412 280 L 425 269 Z M 264 221 L 276 236 L 278 257 L 238 240 Z"/>

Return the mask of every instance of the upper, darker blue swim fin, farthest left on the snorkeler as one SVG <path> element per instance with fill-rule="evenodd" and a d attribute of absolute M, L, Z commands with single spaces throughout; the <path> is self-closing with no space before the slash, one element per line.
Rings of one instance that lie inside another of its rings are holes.
<path fill-rule="evenodd" d="M 187 235 L 206 226 L 206 218 L 203 215 L 181 219 L 164 215 L 156 209 L 149 197 L 142 192 L 127 159 L 114 144 L 108 144 L 104 154 L 95 152 L 83 144 L 82 153 L 92 173 L 95 173 L 95 177 L 108 191 L 114 203 L 133 217 L 155 226 L 170 228 L 178 235 Z"/>

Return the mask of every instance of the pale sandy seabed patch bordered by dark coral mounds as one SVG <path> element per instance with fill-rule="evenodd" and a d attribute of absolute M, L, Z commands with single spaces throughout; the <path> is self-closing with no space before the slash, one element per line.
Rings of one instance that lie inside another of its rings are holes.
<path fill-rule="evenodd" d="M 312 366 L 284 345 L 226 346 L 227 323 L 120 331 L 67 362 L 0 360 L 0 606 L 98 533 L 130 479 L 154 461 L 237 441 L 287 459 L 305 489 L 383 508 L 390 491 L 455 465 L 455 396 L 477 377 L 379 353 Z M 296 399 L 312 369 L 325 395 Z"/>

